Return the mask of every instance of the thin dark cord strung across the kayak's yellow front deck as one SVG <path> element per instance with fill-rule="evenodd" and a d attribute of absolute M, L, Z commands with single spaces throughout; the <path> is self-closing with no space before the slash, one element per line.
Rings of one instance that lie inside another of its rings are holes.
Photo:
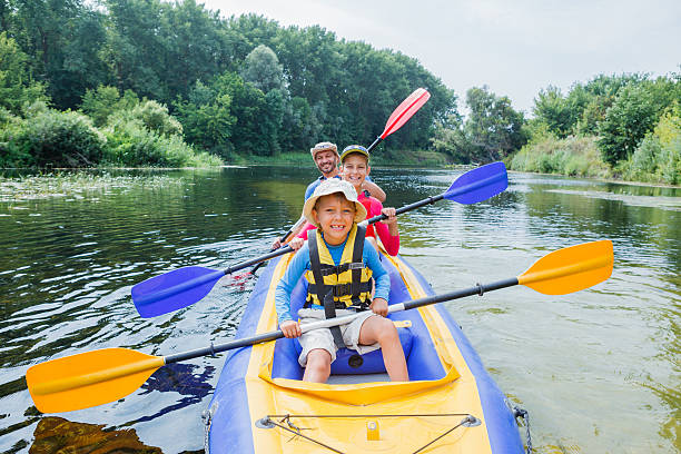
<path fill-rule="evenodd" d="M 267 415 L 258 420 L 256 422 L 256 426 L 259 428 L 272 428 L 276 426 L 276 427 L 283 428 L 284 431 L 290 432 L 292 434 L 296 436 L 302 436 L 303 438 L 308 440 L 313 443 L 316 443 L 319 446 L 326 447 L 327 450 L 333 451 L 334 453 L 345 454 L 343 451 L 338 451 L 335 447 L 328 446 L 317 440 L 314 440 L 307 435 L 304 435 L 300 431 L 308 430 L 308 427 L 300 428 L 296 426 L 290 421 L 290 418 L 292 417 L 297 417 L 297 418 L 313 418 L 313 417 L 314 418 L 368 418 L 368 417 L 376 417 L 377 418 L 377 417 L 435 417 L 435 416 L 464 416 L 464 418 L 458 424 L 456 424 L 454 427 L 450 428 L 445 433 L 441 434 L 436 438 L 432 440 L 427 444 L 414 451 L 412 454 L 417 454 L 422 452 L 426 447 L 431 446 L 433 443 L 437 442 L 438 440 L 443 438 L 444 436 L 448 435 L 450 433 L 454 432 L 456 428 L 461 426 L 473 427 L 473 426 L 477 426 L 481 424 L 481 421 L 470 413 L 417 413 L 417 414 L 403 414 L 403 415 L 378 415 L 378 414 L 376 415 L 290 415 L 290 414 L 285 414 L 285 415 Z M 275 418 L 279 418 L 279 422 L 275 421 Z M 286 423 L 288 427 L 282 423 Z"/>

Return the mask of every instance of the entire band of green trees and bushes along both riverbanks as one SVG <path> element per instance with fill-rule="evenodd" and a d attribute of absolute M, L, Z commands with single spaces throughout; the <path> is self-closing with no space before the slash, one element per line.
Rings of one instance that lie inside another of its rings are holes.
<path fill-rule="evenodd" d="M 318 26 L 224 18 L 194 0 L 0 0 L 0 166 L 206 166 L 322 140 L 368 145 L 425 87 L 431 100 L 379 147 L 382 161 L 430 154 L 681 180 L 679 73 L 600 75 L 565 95 L 549 87 L 531 119 L 474 87 L 464 118 L 454 91 L 414 58 Z"/>

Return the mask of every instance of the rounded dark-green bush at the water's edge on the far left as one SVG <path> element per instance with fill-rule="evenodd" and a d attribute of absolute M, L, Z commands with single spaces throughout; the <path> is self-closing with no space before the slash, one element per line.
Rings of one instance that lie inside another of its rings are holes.
<path fill-rule="evenodd" d="M 106 138 L 81 114 L 60 112 L 45 106 L 27 109 L 37 112 L 12 138 L 18 156 L 31 156 L 38 167 L 92 167 L 103 156 Z"/>

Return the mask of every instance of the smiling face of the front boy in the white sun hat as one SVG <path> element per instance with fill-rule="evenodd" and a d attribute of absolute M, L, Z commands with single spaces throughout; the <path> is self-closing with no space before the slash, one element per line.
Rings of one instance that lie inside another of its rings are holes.
<path fill-rule="evenodd" d="M 324 231 L 324 239 L 333 246 L 345 241 L 355 220 L 355 204 L 342 194 L 329 194 L 319 197 L 312 215 L 318 228 Z"/>

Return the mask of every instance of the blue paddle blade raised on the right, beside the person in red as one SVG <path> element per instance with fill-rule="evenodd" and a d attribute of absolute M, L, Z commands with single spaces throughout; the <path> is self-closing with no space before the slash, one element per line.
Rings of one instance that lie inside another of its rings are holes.
<path fill-rule="evenodd" d="M 466 171 L 443 196 L 447 200 L 471 205 L 494 197 L 507 187 L 506 166 L 499 161 Z"/>

